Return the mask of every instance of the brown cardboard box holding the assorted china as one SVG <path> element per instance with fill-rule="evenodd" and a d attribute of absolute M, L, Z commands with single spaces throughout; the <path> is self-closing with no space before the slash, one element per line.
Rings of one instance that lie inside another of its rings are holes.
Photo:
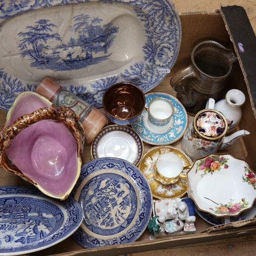
<path fill-rule="evenodd" d="M 235 157 L 245 159 L 249 166 L 256 170 L 255 143 L 256 143 L 256 76 L 255 72 L 255 35 L 250 26 L 245 10 L 238 6 L 221 7 L 216 13 L 182 13 L 182 43 L 180 53 L 171 73 L 152 92 L 166 92 L 176 96 L 169 85 L 170 76 L 190 64 L 190 53 L 198 42 L 215 40 L 225 47 L 234 47 L 239 62 L 233 66 L 227 90 L 237 88 L 246 95 L 246 103 L 242 106 L 242 120 L 240 129 L 246 129 L 250 135 L 237 140 L 226 150 L 219 153 L 229 153 Z M 242 42 L 244 51 L 239 50 L 238 42 Z M 254 52 L 253 52 L 254 51 Z M 7 112 L 0 111 L 0 124 L 5 122 Z M 189 117 L 189 123 L 193 117 Z M 180 147 L 180 141 L 172 146 Z M 144 143 L 144 152 L 152 145 Z M 83 163 L 91 160 L 90 145 L 84 146 Z M 0 170 L 0 185 L 29 185 L 23 179 Z M 149 250 L 187 246 L 191 244 L 209 242 L 220 239 L 234 238 L 256 233 L 256 218 L 238 221 L 219 226 L 212 226 L 197 216 L 197 231 L 187 236 L 169 237 L 149 240 L 146 229 L 142 236 L 134 243 L 86 249 L 80 246 L 72 237 L 50 248 L 31 253 L 30 255 L 122 255 Z"/>

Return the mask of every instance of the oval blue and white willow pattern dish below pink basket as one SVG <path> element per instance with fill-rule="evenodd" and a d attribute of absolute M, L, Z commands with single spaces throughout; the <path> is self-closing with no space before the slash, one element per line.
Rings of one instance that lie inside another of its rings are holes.
<path fill-rule="evenodd" d="M 80 204 L 53 200 L 34 186 L 0 187 L 0 255 L 19 255 L 53 246 L 77 230 Z"/>

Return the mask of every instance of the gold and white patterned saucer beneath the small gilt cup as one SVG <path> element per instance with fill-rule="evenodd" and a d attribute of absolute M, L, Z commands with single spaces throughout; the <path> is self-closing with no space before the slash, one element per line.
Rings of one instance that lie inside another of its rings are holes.
<path fill-rule="evenodd" d="M 153 167 L 156 164 L 158 157 L 166 152 L 177 154 L 181 158 L 184 168 L 192 165 L 192 161 L 182 150 L 177 147 L 166 145 L 155 146 L 147 151 L 141 158 L 139 169 L 150 184 L 153 197 L 158 199 L 180 198 L 187 192 L 186 178 L 179 178 L 176 183 L 164 185 L 156 180 L 154 176 Z"/>

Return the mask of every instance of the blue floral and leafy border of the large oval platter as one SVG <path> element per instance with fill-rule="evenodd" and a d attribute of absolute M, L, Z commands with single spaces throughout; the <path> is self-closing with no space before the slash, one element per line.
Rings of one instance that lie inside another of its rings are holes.
<path fill-rule="evenodd" d="M 0 9 L 0 20 L 13 17 L 17 14 L 40 8 L 77 4 L 84 2 L 105 2 L 114 3 L 122 2 L 136 6 L 137 16 L 145 24 L 146 44 L 143 46 L 145 54 L 144 61 L 136 62 L 129 69 L 125 69 L 117 76 L 105 77 L 90 83 L 93 90 L 88 90 L 84 84 L 70 84 L 65 88 L 76 94 L 81 99 L 92 104 L 96 108 L 102 107 L 102 96 L 104 91 L 116 82 L 132 82 L 142 89 L 144 93 L 156 87 L 167 75 L 167 73 L 159 73 L 159 68 L 172 69 L 177 59 L 180 42 L 181 42 L 181 24 L 180 17 L 176 11 L 174 4 L 168 0 L 28 0 L 16 1 L 15 6 L 8 0 L 2 2 Z M 25 4 L 26 3 L 26 6 Z M 0 24 L 0 28 L 1 28 Z M 169 51 L 173 51 L 172 58 L 166 65 L 159 65 L 154 59 L 156 53 L 161 48 L 169 47 Z M 158 65 L 156 65 L 156 63 Z M 89 85 L 89 84 L 88 84 Z M 13 101 L 18 94 L 24 91 L 34 91 L 37 84 L 24 84 L 22 80 L 7 74 L 4 70 L 0 70 L 0 108 L 9 110 Z"/>

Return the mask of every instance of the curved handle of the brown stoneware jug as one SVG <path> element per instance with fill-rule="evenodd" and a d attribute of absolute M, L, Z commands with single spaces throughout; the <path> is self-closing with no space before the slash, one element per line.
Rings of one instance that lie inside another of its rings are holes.
<path fill-rule="evenodd" d="M 183 86 L 179 83 L 188 78 L 197 78 L 198 75 L 193 71 L 191 65 L 178 71 L 176 74 L 170 78 L 170 86 L 177 93 L 185 94 Z"/>

